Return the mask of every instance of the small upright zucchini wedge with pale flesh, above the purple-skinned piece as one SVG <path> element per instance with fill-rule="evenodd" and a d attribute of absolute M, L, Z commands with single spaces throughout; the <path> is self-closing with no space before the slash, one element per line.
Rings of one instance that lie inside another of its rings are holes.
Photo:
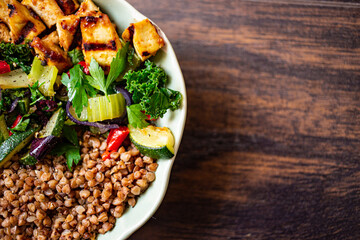
<path fill-rule="evenodd" d="M 60 137 L 66 119 L 66 112 L 64 109 L 59 108 L 53 113 L 49 122 L 43 130 L 40 131 L 40 138 L 48 137 L 50 135 Z"/>

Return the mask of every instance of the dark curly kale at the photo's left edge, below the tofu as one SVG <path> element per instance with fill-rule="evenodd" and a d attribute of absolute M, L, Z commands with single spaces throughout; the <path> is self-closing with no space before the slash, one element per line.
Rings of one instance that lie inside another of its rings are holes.
<path fill-rule="evenodd" d="M 0 43 L 0 60 L 7 62 L 11 70 L 20 67 L 29 74 L 33 59 L 34 56 L 28 44 Z"/>

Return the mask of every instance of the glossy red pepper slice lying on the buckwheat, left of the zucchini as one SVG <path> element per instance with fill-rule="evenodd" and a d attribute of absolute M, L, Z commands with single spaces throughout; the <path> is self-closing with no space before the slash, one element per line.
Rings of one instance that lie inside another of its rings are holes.
<path fill-rule="evenodd" d="M 110 158 L 110 154 L 112 152 L 116 152 L 121 144 L 124 142 L 126 137 L 129 135 L 129 128 L 125 126 L 121 126 L 116 129 L 111 129 L 109 136 L 106 140 L 107 148 L 106 151 L 102 154 L 102 159 L 106 160 Z"/>

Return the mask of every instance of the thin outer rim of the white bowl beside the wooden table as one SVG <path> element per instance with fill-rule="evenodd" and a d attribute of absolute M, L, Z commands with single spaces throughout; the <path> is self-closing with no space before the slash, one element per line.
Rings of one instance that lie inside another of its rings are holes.
<path fill-rule="evenodd" d="M 97 0 L 97 1 L 99 1 L 99 0 Z M 94 0 L 94 2 L 97 2 L 97 1 Z M 177 140 L 178 142 L 176 143 L 176 146 L 175 146 L 174 156 L 173 156 L 172 159 L 167 160 L 167 161 L 171 161 L 171 162 L 170 162 L 169 167 L 168 167 L 168 172 L 166 173 L 165 182 L 163 183 L 162 191 L 160 193 L 160 197 L 158 197 L 157 201 L 154 202 L 154 205 L 152 205 L 151 211 L 149 211 L 146 215 L 141 216 L 141 218 L 139 218 L 140 220 L 138 222 L 136 222 L 134 225 L 132 225 L 129 229 L 125 229 L 125 230 L 123 230 L 123 232 L 119 233 L 119 236 L 118 236 L 117 239 L 120 240 L 120 239 L 129 238 L 133 233 L 135 233 L 135 231 L 137 231 L 139 228 L 141 228 L 155 214 L 155 212 L 160 207 L 160 205 L 161 205 L 161 203 L 162 203 L 162 201 L 163 201 L 163 199 L 164 199 L 164 197 L 166 195 L 167 188 L 168 188 L 168 185 L 169 185 L 170 175 L 171 175 L 171 172 L 172 172 L 172 166 L 174 164 L 175 158 L 176 158 L 177 153 L 179 151 L 179 147 L 180 147 L 181 140 L 182 140 L 183 133 L 184 133 L 184 129 L 185 129 L 185 123 L 186 123 L 186 118 L 187 118 L 187 92 L 186 92 L 185 80 L 184 80 L 184 76 L 183 76 L 181 68 L 180 68 L 180 64 L 179 64 L 178 59 L 176 57 L 175 51 L 174 51 L 169 39 L 167 38 L 166 34 L 161 30 L 161 28 L 159 26 L 156 25 L 156 23 L 154 21 L 152 21 L 150 18 L 148 18 L 145 15 L 143 15 L 142 13 L 140 13 L 135 7 L 133 7 L 126 0 L 113 0 L 113 1 L 118 1 L 118 2 L 121 2 L 122 4 L 124 4 L 127 7 L 127 10 L 131 11 L 130 15 L 133 18 L 135 18 L 137 20 L 147 18 L 156 26 L 159 34 L 161 35 L 161 37 L 165 41 L 166 54 L 171 54 L 171 55 L 174 56 L 174 59 L 172 60 L 172 64 L 173 64 L 173 67 L 176 68 L 178 70 L 178 73 L 179 73 L 179 75 L 177 75 L 177 81 L 179 81 L 179 84 L 181 85 L 182 89 L 184 89 L 184 92 L 182 92 L 182 97 L 183 97 L 183 100 L 182 100 L 182 112 L 183 112 L 182 114 L 183 114 L 183 116 L 182 117 L 183 117 L 183 121 L 179 125 L 179 127 L 181 127 L 181 131 L 180 131 L 179 139 Z M 156 184 L 156 180 L 152 184 Z M 158 183 L 158 184 L 160 184 L 160 183 Z M 140 196 L 140 198 L 141 198 L 141 196 Z"/>

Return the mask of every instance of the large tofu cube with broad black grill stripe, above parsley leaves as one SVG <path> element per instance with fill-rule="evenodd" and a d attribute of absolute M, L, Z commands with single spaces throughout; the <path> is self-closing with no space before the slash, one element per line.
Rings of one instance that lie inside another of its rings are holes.
<path fill-rule="evenodd" d="M 82 50 L 85 62 L 90 64 L 94 58 L 107 72 L 112 59 L 122 48 L 114 25 L 106 14 L 81 18 Z"/>

